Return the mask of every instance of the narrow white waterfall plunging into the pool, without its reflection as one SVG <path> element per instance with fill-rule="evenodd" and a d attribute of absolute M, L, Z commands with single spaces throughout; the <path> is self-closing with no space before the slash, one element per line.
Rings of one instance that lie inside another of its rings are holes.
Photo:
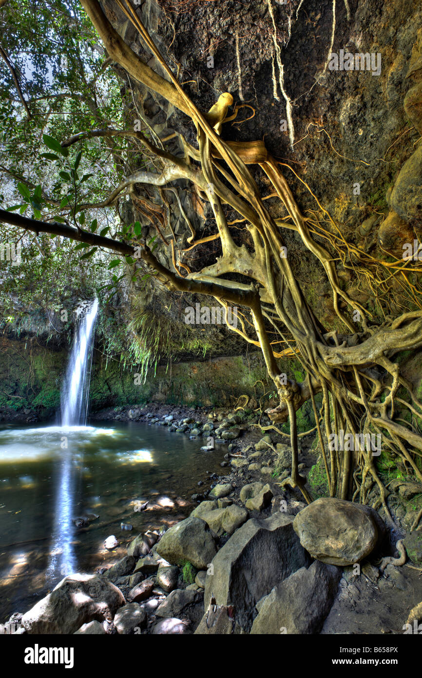
<path fill-rule="evenodd" d="M 97 311 L 96 299 L 79 319 L 60 400 L 62 426 L 85 426 L 87 422 L 91 346 Z"/>

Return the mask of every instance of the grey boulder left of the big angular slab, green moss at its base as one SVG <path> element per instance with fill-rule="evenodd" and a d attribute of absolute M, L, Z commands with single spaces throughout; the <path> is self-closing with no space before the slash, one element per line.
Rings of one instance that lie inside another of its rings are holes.
<path fill-rule="evenodd" d="M 204 570 L 216 553 L 207 523 L 194 516 L 170 527 L 161 537 L 156 551 L 171 565 L 188 560 L 197 570 Z"/>

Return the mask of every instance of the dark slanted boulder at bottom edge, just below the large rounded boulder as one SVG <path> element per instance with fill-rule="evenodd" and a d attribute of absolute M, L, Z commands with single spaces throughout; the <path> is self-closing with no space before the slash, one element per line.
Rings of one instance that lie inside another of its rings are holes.
<path fill-rule="evenodd" d="M 274 586 L 257 603 L 251 634 L 319 633 L 333 605 L 341 569 L 314 561 Z"/>

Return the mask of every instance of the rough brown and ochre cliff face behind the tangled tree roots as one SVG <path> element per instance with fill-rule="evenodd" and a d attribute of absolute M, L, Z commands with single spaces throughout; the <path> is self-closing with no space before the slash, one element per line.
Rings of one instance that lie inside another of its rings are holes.
<path fill-rule="evenodd" d="M 103 5 L 125 41 L 160 70 L 117 5 L 109 0 Z M 420 7 L 398 0 L 147 0 L 138 13 L 201 111 L 223 92 L 245 106 L 222 135 L 234 141 L 263 139 L 270 153 L 289 165 L 285 176 L 303 212 L 318 210 L 316 197 L 348 242 L 375 258 L 385 258 L 385 251 L 402 257 L 403 243 L 420 233 L 422 218 L 420 149 L 415 152 L 422 101 Z M 176 129 L 194 143 L 183 113 L 131 84 L 138 113 L 158 136 L 164 139 Z M 128 124 L 137 111 L 127 111 Z M 166 141 L 165 148 L 177 153 L 177 141 Z M 257 171 L 255 179 L 265 193 L 265 178 Z M 170 199 L 177 228 L 180 210 Z M 207 235 L 209 215 L 201 214 L 188 194 L 183 200 L 196 230 Z M 276 199 L 267 205 L 273 216 L 284 216 Z M 153 233 L 151 228 L 148 235 Z M 296 233 L 287 231 L 285 240 L 312 308 L 332 328 L 335 313 L 322 267 Z M 215 256 L 215 247 L 195 250 L 201 265 L 207 255 Z M 194 269 L 193 254 L 184 262 Z M 367 281 L 358 281 L 347 266 L 343 271 L 340 266 L 339 275 L 352 298 L 381 313 L 370 300 Z M 397 301 L 391 302 L 393 314 L 399 311 Z M 228 336 L 226 342 L 231 341 Z"/>

